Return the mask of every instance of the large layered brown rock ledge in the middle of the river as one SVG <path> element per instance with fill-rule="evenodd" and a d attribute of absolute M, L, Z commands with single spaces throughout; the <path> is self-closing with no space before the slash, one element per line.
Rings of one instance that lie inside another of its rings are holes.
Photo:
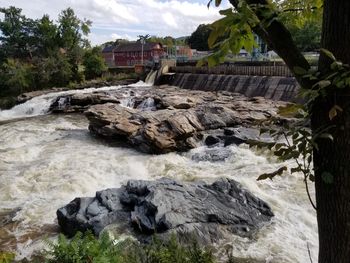
<path fill-rule="evenodd" d="M 195 148 L 210 130 L 252 127 L 258 121 L 278 117 L 278 107 L 286 104 L 174 87 L 138 90 L 135 94 L 129 97 L 134 107 L 105 99 L 107 103 L 90 106 L 85 115 L 94 134 L 152 154 Z M 151 107 L 140 107 L 146 102 L 152 102 Z"/>

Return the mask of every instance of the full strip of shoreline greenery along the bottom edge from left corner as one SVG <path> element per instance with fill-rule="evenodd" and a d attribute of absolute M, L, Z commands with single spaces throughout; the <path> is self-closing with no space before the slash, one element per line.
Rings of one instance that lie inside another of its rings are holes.
<path fill-rule="evenodd" d="M 57 242 L 46 243 L 47 248 L 31 259 L 16 261 L 14 253 L 0 251 L 0 263 L 259 263 L 254 259 L 233 257 L 229 247 L 218 259 L 214 248 L 201 246 L 195 239 L 183 244 L 175 235 L 141 244 L 131 238 L 112 239 L 107 232 L 100 237 L 91 232 L 78 232 L 72 239 L 60 234 Z"/>

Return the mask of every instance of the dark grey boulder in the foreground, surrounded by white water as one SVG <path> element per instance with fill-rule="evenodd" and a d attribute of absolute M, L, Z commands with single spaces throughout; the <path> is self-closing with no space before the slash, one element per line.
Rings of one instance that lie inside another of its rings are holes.
<path fill-rule="evenodd" d="M 144 242 L 154 233 L 176 233 L 180 240 L 196 238 L 203 244 L 232 234 L 249 237 L 271 217 L 264 201 L 231 179 L 212 184 L 130 180 L 95 197 L 75 198 L 57 210 L 58 223 L 68 236 L 87 230 L 98 235 L 115 226 Z"/>

